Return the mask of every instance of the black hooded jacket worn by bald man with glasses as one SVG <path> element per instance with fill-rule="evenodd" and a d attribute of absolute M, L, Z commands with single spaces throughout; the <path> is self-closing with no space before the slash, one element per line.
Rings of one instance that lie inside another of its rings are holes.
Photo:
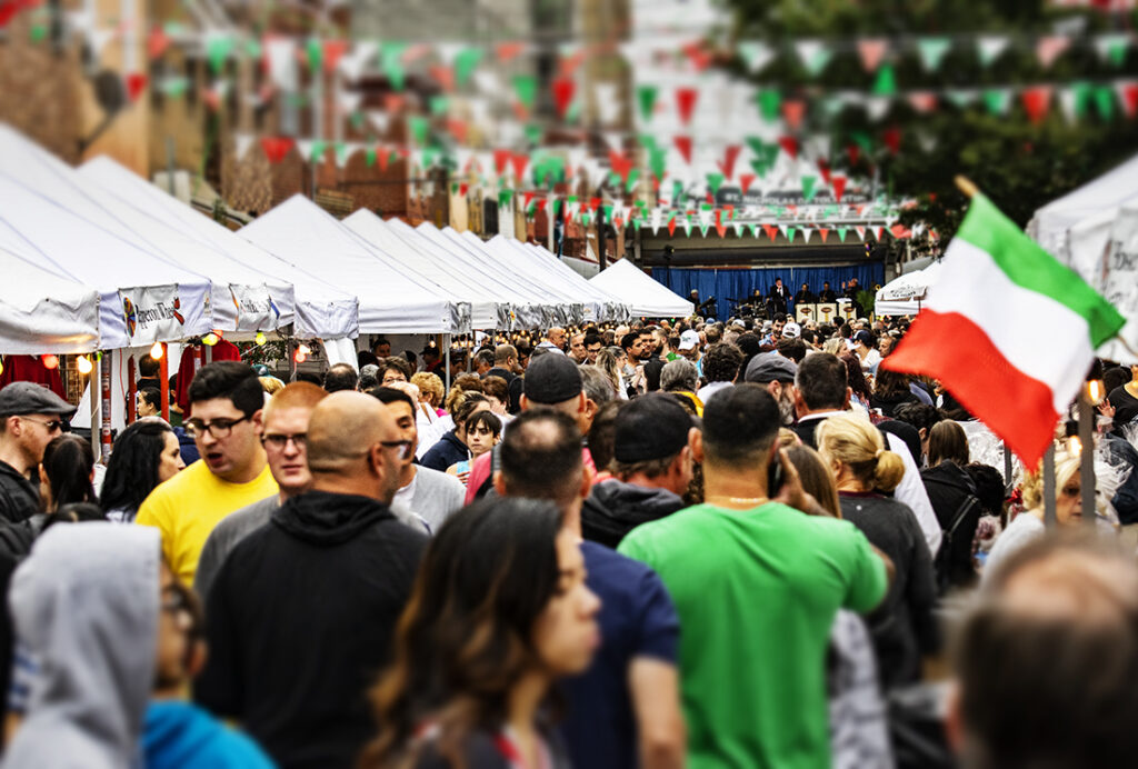
<path fill-rule="evenodd" d="M 217 572 L 195 698 L 241 721 L 281 767 L 354 766 L 374 736 L 366 692 L 426 545 L 369 497 L 289 499 Z"/>

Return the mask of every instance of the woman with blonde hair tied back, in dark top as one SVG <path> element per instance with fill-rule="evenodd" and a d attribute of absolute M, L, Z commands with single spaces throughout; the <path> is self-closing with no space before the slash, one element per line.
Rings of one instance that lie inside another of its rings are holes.
<path fill-rule="evenodd" d="M 893 561 L 889 594 L 869 615 L 877 670 L 887 688 L 921 678 L 921 656 L 935 651 L 937 598 L 932 555 L 909 507 L 890 495 L 905 474 L 901 457 L 887 449 L 868 420 L 839 414 L 817 429 L 818 453 L 838 483 L 842 518 Z"/>

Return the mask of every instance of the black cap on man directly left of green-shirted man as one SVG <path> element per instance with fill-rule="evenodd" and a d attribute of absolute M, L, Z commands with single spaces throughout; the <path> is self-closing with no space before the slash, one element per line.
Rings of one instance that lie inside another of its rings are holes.
<path fill-rule="evenodd" d="M 617 412 L 612 455 L 624 464 L 675 456 L 691 428 L 692 417 L 674 396 L 649 392 Z"/>

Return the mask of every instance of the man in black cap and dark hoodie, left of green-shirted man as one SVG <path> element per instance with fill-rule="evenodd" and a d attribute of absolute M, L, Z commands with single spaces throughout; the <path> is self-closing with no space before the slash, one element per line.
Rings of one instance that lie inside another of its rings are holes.
<path fill-rule="evenodd" d="M 641 523 L 685 506 L 699 430 L 675 396 L 650 392 L 617 412 L 612 480 L 593 487 L 580 511 L 585 539 L 612 547 Z"/>

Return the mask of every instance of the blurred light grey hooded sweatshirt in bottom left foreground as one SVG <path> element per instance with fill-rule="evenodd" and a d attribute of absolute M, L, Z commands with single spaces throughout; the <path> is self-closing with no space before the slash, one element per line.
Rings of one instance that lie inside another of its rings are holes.
<path fill-rule="evenodd" d="M 157 529 L 49 529 L 13 577 L 9 607 L 34 650 L 27 714 L 3 767 L 123 769 L 140 760 L 158 635 Z"/>

